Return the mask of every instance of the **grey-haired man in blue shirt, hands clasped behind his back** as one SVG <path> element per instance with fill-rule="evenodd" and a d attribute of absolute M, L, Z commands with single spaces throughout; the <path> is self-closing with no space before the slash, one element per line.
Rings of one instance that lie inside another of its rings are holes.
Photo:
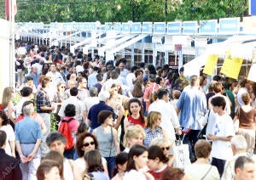
<path fill-rule="evenodd" d="M 15 143 L 21 160 L 22 179 L 35 179 L 41 160 L 39 147 L 43 134 L 39 123 L 32 120 L 33 112 L 32 101 L 26 101 L 22 106 L 25 117 L 15 125 Z"/>

